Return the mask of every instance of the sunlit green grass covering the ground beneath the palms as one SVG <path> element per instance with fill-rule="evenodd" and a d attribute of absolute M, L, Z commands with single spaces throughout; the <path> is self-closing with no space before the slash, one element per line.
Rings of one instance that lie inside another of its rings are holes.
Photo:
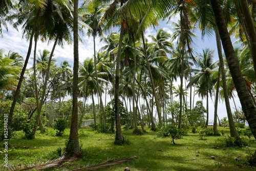
<path fill-rule="evenodd" d="M 220 127 L 228 134 L 228 128 Z M 146 130 L 143 136 L 132 135 L 132 130 L 123 130 L 125 139 L 131 141 L 130 145 L 113 145 L 115 136 L 113 134 L 99 134 L 92 129 L 80 129 L 79 139 L 84 156 L 76 162 L 69 163 L 68 168 L 72 170 L 77 165 L 80 167 L 95 163 L 101 163 L 108 159 L 121 159 L 137 156 L 130 162 L 107 167 L 101 170 L 124 170 L 129 166 L 131 170 L 255 170 L 249 167 L 246 156 L 249 155 L 248 148 L 225 147 L 225 136 L 208 136 L 199 140 L 198 133 L 188 133 L 183 139 L 176 140 L 174 145 L 170 138 L 157 137 L 156 132 Z M 9 165 L 20 164 L 31 165 L 46 162 L 56 157 L 56 149 L 64 148 L 68 139 L 69 130 L 62 137 L 54 137 L 54 131 L 48 129 L 48 135 L 37 134 L 34 140 L 22 139 L 18 134 L 9 140 Z M 249 141 L 247 139 L 247 141 Z M 28 146 L 28 148 L 23 148 Z M 219 148 L 211 148 L 218 146 Z M 250 151 L 254 153 L 255 141 L 249 142 Z M 223 148 L 226 148 L 224 151 Z M 160 151 L 161 150 L 161 151 Z M 0 151 L 3 151 L 1 146 Z M 196 157 L 199 151 L 199 156 Z M 211 159 L 215 156 L 215 159 Z M 3 159 L 4 154 L 0 154 Z M 235 161 L 234 157 L 240 157 L 241 161 Z M 189 160 L 194 159 L 195 160 Z M 188 160 L 188 161 L 186 161 Z M 0 167 L 1 170 L 1 167 Z M 47 169 L 53 170 L 53 169 Z M 54 170 L 63 170 L 58 168 Z"/>

